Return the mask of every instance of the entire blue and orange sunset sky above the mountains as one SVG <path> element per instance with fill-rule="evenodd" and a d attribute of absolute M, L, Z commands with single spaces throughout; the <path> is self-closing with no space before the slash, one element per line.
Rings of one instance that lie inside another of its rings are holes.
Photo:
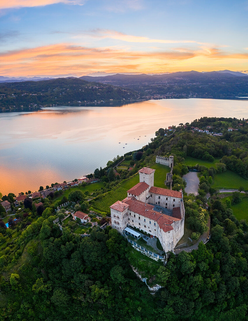
<path fill-rule="evenodd" d="M 0 76 L 248 73 L 248 0 L 0 0 Z"/>

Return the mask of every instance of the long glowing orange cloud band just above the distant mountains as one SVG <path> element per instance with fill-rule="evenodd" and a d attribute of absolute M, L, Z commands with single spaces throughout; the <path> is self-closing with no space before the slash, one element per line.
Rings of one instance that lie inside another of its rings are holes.
<path fill-rule="evenodd" d="M 230 54 L 217 48 L 167 51 L 131 51 L 123 48 L 87 48 L 61 43 L 0 53 L 0 74 L 81 75 L 99 70 L 107 73 L 220 69 L 248 69 L 248 54 Z"/>

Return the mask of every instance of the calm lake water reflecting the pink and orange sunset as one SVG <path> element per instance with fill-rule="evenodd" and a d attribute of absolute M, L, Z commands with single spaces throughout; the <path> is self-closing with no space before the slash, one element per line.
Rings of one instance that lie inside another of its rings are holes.
<path fill-rule="evenodd" d="M 248 101 L 168 99 L 1 113 L 0 191 L 36 191 L 80 178 L 118 154 L 141 148 L 160 127 L 203 116 L 248 118 Z"/>

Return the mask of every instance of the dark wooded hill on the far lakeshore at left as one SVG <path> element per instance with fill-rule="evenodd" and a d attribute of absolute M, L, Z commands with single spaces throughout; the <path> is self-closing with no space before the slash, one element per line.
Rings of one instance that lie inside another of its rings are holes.
<path fill-rule="evenodd" d="M 117 86 L 68 77 L 43 81 L 0 83 L 0 108 L 130 101 L 137 92 Z"/>

